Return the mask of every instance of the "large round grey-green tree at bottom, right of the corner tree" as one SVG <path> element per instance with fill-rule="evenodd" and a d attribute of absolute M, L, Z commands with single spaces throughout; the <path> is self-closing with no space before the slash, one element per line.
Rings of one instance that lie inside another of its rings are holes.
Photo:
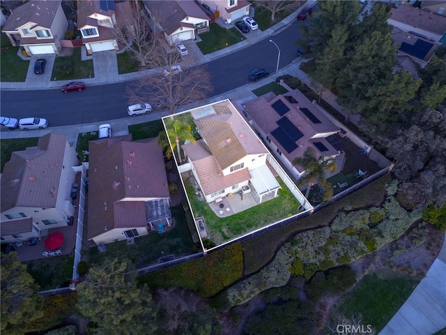
<path fill-rule="evenodd" d="M 77 286 L 79 313 L 98 326 L 97 334 L 153 334 L 157 329 L 157 306 L 146 285 L 137 286 L 137 271 L 127 262 L 107 260 L 89 270 Z"/>

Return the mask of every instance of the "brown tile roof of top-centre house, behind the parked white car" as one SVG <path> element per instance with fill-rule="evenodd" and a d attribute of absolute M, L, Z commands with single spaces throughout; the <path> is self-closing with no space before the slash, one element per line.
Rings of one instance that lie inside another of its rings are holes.
<path fill-rule="evenodd" d="M 192 0 L 143 0 L 143 3 L 167 35 L 180 27 L 194 28 L 194 24 L 181 22 L 187 17 L 209 20 L 208 15 Z"/>

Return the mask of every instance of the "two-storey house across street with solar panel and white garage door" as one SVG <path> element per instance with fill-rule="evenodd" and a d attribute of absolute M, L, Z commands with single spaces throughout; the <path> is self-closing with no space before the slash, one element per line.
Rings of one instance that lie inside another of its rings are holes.
<path fill-rule="evenodd" d="M 119 17 L 128 15 L 128 1 L 78 0 L 77 29 L 88 54 L 105 50 L 119 50 L 114 29 L 120 27 Z"/>

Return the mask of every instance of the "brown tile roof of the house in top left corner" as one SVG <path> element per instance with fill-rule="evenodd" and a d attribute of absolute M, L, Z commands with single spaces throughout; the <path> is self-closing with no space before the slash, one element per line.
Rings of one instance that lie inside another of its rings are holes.
<path fill-rule="evenodd" d="M 13 31 L 28 22 L 50 29 L 61 0 L 31 0 L 15 8 L 3 26 L 3 31 Z"/>

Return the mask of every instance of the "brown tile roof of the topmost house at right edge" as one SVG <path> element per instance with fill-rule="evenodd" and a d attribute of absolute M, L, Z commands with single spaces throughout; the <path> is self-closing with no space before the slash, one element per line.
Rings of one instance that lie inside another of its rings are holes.
<path fill-rule="evenodd" d="M 443 35 L 446 32 L 446 17 L 412 6 L 400 5 L 390 10 L 390 20 L 410 24 L 432 33 Z"/>

